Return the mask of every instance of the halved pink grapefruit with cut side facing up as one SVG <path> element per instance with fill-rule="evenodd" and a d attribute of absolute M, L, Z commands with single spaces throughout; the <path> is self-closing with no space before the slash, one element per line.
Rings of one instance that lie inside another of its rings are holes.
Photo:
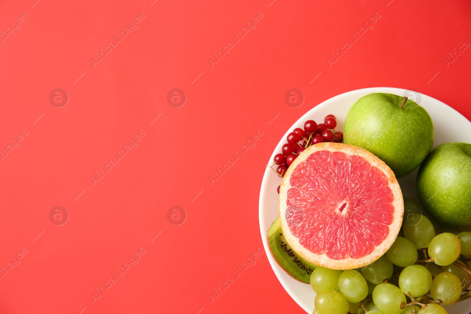
<path fill-rule="evenodd" d="M 286 241 L 302 258 L 331 269 L 359 268 L 380 258 L 398 236 L 403 215 L 394 173 L 357 146 L 308 147 L 280 187 Z"/>

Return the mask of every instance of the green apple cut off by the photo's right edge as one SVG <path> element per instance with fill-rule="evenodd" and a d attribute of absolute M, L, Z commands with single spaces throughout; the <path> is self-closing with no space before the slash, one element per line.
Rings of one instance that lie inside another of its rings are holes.
<path fill-rule="evenodd" d="M 439 223 L 471 225 L 471 144 L 435 147 L 417 173 L 417 195 Z"/>

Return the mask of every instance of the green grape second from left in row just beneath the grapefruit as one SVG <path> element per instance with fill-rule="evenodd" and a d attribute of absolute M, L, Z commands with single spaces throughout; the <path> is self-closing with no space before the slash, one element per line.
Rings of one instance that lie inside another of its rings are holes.
<path fill-rule="evenodd" d="M 356 270 L 346 270 L 339 277 L 339 289 L 343 296 L 352 303 L 360 302 L 368 296 L 368 284 Z"/>

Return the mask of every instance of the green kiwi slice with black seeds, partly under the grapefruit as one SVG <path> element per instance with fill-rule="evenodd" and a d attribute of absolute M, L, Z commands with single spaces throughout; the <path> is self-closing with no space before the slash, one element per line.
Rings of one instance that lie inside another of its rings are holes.
<path fill-rule="evenodd" d="M 267 242 L 271 256 L 275 258 L 286 274 L 300 282 L 310 283 L 311 274 L 317 266 L 301 258 L 286 242 L 281 231 L 279 217 L 276 218 L 273 225 L 268 229 Z"/>

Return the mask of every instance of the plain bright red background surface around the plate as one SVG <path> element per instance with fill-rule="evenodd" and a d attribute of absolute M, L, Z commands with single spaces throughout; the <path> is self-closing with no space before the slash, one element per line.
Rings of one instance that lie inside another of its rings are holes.
<path fill-rule="evenodd" d="M 0 30 L 22 12 L 0 44 L 0 148 L 28 132 L 0 161 L 0 266 L 28 253 L 0 279 L 1 313 L 302 313 L 266 253 L 209 298 L 262 247 L 260 180 L 286 129 L 330 97 L 374 86 L 417 89 L 471 118 L 471 51 L 444 61 L 471 43 L 466 0 L 2 1 Z M 94 67 L 90 58 L 140 12 L 138 29 Z M 329 67 L 376 12 L 374 28 Z M 70 97 L 62 108 L 49 103 L 56 88 Z M 167 103 L 173 88 L 187 95 L 180 108 Z M 291 88 L 304 94 L 298 108 L 284 102 Z M 211 185 L 258 130 L 256 146 Z M 54 206 L 68 211 L 64 225 L 49 220 Z M 172 206 L 186 211 L 182 225 L 167 220 Z M 94 303 L 90 294 L 139 248 L 138 265 Z"/>

